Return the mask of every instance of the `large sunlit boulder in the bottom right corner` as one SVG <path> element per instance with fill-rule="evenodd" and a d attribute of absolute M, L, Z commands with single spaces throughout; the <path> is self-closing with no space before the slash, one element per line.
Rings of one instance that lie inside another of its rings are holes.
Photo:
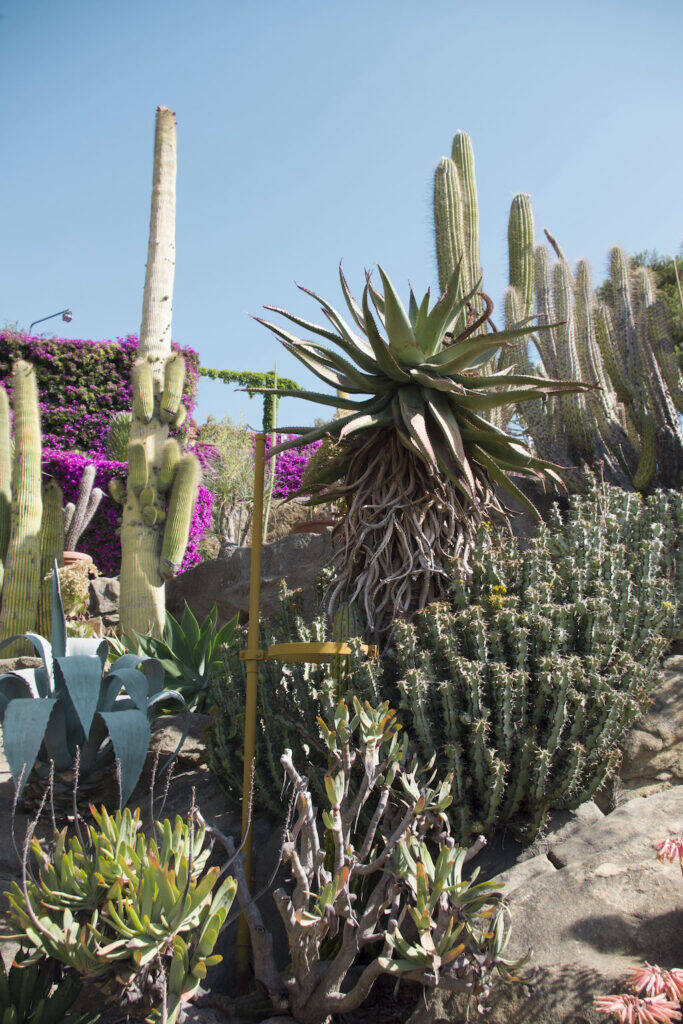
<path fill-rule="evenodd" d="M 624 990 L 632 967 L 683 964 L 681 870 L 652 844 L 683 831 L 683 787 L 636 798 L 550 839 L 499 876 L 512 911 L 506 955 L 528 948 L 530 989 L 495 984 L 488 1024 L 597 1024 L 595 995 Z M 436 992 L 410 1024 L 460 1024 L 461 997 Z"/>

